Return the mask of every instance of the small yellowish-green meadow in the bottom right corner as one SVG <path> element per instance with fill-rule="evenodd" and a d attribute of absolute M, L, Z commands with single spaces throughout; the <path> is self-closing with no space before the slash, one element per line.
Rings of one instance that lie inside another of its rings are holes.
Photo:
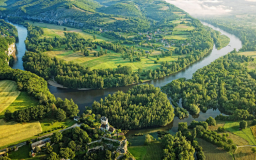
<path fill-rule="evenodd" d="M 254 160 L 256 154 L 253 154 L 252 147 L 239 147 L 235 152 L 236 160 Z"/>

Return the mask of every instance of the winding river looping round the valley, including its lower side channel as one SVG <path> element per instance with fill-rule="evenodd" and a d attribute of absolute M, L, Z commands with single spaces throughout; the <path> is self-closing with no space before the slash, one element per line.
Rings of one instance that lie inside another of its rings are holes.
<path fill-rule="evenodd" d="M 226 31 L 223 31 L 220 28 L 216 28 L 212 26 L 211 24 L 207 24 L 205 22 L 202 22 L 205 26 L 209 26 L 214 30 L 220 31 L 221 34 L 227 35 L 230 38 L 230 43 L 227 47 L 224 47 L 223 49 L 217 50 L 215 45 L 212 49 L 212 51 L 202 58 L 199 61 L 196 61 L 196 63 L 193 63 L 189 65 L 188 67 L 184 68 L 184 70 L 180 70 L 180 72 L 177 72 L 176 74 L 172 74 L 170 76 L 163 77 L 161 79 L 156 79 L 152 81 L 147 81 L 148 84 L 154 84 L 154 86 L 164 86 L 167 83 L 170 83 L 171 81 L 175 79 L 179 79 L 180 77 L 186 77 L 187 79 L 191 79 L 193 76 L 193 73 L 196 72 L 199 68 L 202 68 L 212 61 L 216 60 L 220 56 L 224 56 L 225 54 L 228 54 L 228 52 L 233 51 L 234 48 L 240 49 L 242 47 L 242 42 L 237 38 L 235 35 L 232 35 L 230 33 L 227 33 Z M 24 26 L 20 26 L 19 24 L 13 24 L 18 29 L 19 33 L 19 42 L 16 44 L 17 46 L 17 61 L 15 61 L 15 64 L 12 68 L 19 68 L 21 70 L 24 70 L 22 66 L 22 56 L 24 56 L 26 51 L 26 46 L 24 43 L 24 40 L 26 40 L 26 36 L 28 35 L 28 31 Z M 55 95 L 55 97 L 60 97 L 61 99 L 73 99 L 74 102 L 79 106 L 80 111 L 84 110 L 84 106 L 91 106 L 94 100 L 100 100 L 104 99 L 107 95 L 114 93 L 118 90 L 122 90 L 123 92 L 126 92 L 129 90 L 129 88 L 132 88 L 134 85 L 130 86 L 122 86 L 118 88 L 108 88 L 104 90 L 73 90 L 73 89 L 64 89 L 64 88 L 56 88 L 54 86 L 48 85 L 48 88 L 52 94 Z M 127 137 L 127 140 L 132 143 L 132 145 L 143 145 L 145 141 L 145 134 L 152 134 L 154 138 L 157 138 L 157 131 L 169 131 L 171 133 L 177 132 L 178 124 L 179 122 L 188 122 L 188 124 L 191 123 L 192 120 L 206 120 L 209 118 L 209 116 L 212 116 L 213 118 L 216 115 L 219 115 L 220 111 L 209 109 L 206 113 L 200 113 L 197 116 L 189 115 L 189 118 L 185 118 L 183 120 L 179 120 L 179 118 L 175 117 L 173 122 L 169 125 L 166 125 L 164 127 L 150 127 L 147 129 L 133 129 L 132 131 L 127 132 L 125 136 Z M 135 133 L 143 132 L 143 136 L 135 137 L 133 136 Z"/>

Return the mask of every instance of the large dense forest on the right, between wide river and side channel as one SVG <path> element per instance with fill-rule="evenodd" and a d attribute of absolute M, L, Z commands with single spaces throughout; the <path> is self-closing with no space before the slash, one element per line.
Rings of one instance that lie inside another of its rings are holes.
<path fill-rule="evenodd" d="M 248 61 L 253 58 L 234 51 L 200 68 L 192 79 L 174 80 L 163 90 L 175 101 L 182 98 L 182 106 L 193 115 L 209 108 L 218 108 L 227 115 L 232 115 L 236 109 L 253 114 L 256 81 L 241 64 Z"/>

